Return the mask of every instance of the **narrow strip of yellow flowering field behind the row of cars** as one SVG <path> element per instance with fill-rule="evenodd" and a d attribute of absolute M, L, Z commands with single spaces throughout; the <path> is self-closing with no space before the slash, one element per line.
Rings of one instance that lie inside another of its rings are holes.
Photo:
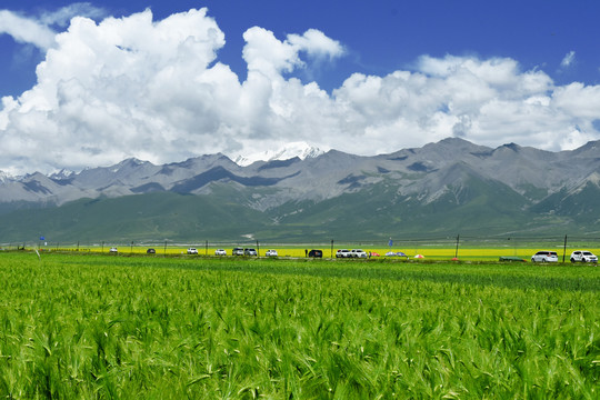
<path fill-rule="evenodd" d="M 597 236 L 506 236 L 506 237 L 389 237 L 364 240 L 328 241 L 270 241 L 244 238 L 242 240 L 80 240 L 58 242 L 42 240 L 0 243 L 0 250 L 80 251 L 116 254 L 150 253 L 156 256 L 216 256 L 216 250 L 232 254 L 234 248 L 257 250 L 263 257 L 267 250 L 276 250 L 279 257 L 308 257 L 310 250 L 321 250 L 323 258 L 336 258 L 339 249 L 362 249 L 369 257 L 404 257 L 407 259 L 458 259 L 529 260 L 538 250 L 554 251 L 559 261 L 569 262 L 574 250 L 600 252 L 600 234 Z M 152 249 L 152 250 L 150 250 Z M 190 250 L 196 249 L 196 252 Z M 112 250 L 112 251 L 111 251 Z M 188 251 L 190 250 L 190 251 Z"/>

